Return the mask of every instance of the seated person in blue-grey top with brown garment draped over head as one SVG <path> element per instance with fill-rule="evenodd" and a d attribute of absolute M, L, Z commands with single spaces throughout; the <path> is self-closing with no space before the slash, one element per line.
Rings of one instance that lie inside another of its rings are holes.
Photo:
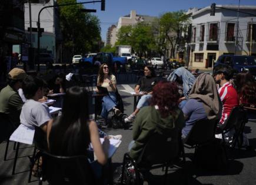
<path fill-rule="evenodd" d="M 189 99 L 182 109 L 186 120 L 185 127 L 182 129 L 182 138 L 187 138 L 198 120 L 220 120 L 221 110 L 222 103 L 214 78 L 209 73 L 202 73 L 195 80 Z"/>

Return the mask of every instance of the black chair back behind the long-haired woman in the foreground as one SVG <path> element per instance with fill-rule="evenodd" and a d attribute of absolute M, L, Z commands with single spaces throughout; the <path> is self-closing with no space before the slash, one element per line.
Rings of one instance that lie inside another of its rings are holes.
<path fill-rule="evenodd" d="M 42 181 L 49 184 L 97 184 L 86 156 L 54 156 L 42 152 Z M 99 184 L 99 183 L 98 183 Z"/>

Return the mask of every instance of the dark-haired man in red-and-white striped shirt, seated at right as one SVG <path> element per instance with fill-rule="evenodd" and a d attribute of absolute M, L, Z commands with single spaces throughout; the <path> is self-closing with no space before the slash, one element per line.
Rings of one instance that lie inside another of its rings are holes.
<path fill-rule="evenodd" d="M 219 85 L 218 93 L 221 97 L 222 102 L 222 115 L 217 127 L 224 126 L 225 120 L 230 116 L 231 110 L 238 106 L 238 95 L 235 88 L 230 83 L 232 78 L 232 72 L 230 68 L 226 66 L 217 66 L 214 71 L 215 82 Z"/>

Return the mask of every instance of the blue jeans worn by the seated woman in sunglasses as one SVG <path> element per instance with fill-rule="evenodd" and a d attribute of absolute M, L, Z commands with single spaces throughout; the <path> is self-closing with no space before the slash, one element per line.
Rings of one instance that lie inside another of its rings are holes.
<path fill-rule="evenodd" d="M 117 96 L 115 92 L 108 92 L 108 95 L 102 98 L 101 117 L 108 119 L 108 112 L 115 106 L 117 106 Z"/>

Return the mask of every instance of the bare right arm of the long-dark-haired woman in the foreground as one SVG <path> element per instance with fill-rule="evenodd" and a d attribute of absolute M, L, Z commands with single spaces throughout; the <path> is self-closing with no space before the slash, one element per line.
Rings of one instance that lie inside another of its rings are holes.
<path fill-rule="evenodd" d="M 100 164 L 107 163 L 109 140 L 105 138 L 104 142 L 101 144 L 101 141 L 99 140 L 98 126 L 94 121 L 91 121 L 89 123 L 89 132 L 90 132 L 92 147 L 94 148 L 94 153 L 97 157 L 98 162 Z"/>

